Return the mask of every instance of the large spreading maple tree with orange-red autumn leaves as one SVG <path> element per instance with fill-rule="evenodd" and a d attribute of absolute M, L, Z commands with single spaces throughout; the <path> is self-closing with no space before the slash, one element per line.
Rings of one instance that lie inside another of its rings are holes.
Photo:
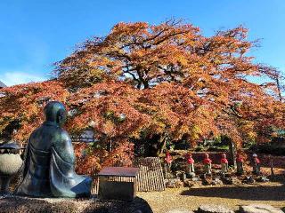
<path fill-rule="evenodd" d="M 106 163 L 139 142 L 156 155 L 167 140 L 224 134 L 239 146 L 262 138 L 266 127 L 284 125 L 281 73 L 253 62 L 247 34 L 238 27 L 207 37 L 181 20 L 118 23 L 55 63 L 53 81 L 2 89 L 0 130 L 17 121 L 13 137 L 27 139 L 43 101 L 59 99 L 69 108 L 67 129 L 94 128 L 100 142 L 89 154 Z M 250 80 L 264 76 L 273 81 Z"/>

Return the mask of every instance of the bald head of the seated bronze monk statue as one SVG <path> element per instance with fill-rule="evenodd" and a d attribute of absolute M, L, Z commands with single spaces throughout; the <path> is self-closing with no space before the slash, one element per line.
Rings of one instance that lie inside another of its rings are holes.
<path fill-rule="evenodd" d="M 48 122 L 56 122 L 62 126 L 66 122 L 67 113 L 64 105 L 59 101 L 51 101 L 45 105 L 45 120 Z"/>

